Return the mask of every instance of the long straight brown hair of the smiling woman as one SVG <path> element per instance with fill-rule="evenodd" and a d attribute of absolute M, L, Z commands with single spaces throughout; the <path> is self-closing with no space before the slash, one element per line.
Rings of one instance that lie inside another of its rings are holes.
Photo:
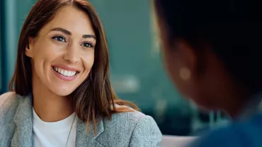
<path fill-rule="evenodd" d="M 96 132 L 95 124 L 98 118 L 107 117 L 110 119 L 113 113 L 132 111 L 129 107 L 115 107 L 115 104 L 129 105 L 135 110 L 137 107 L 131 102 L 119 100 L 114 93 L 108 71 L 109 57 L 106 35 L 101 20 L 89 1 L 38 0 L 33 5 L 21 30 L 16 69 L 9 89 L 14 90 L 18 95 L 32 93 L 32 69 L 29 57 L 25 56 L 28 37 L 37 37 L 40 29 L 52 20 L 55 13 L 63 6 L 74 6 L 84 11 L 89 16 L 96 34 L 97 43 L 93 67 L 86 80 L 71 94 L 77 117 L 87 123 L 87 128 L 89 122 L 92 122 Z"/>

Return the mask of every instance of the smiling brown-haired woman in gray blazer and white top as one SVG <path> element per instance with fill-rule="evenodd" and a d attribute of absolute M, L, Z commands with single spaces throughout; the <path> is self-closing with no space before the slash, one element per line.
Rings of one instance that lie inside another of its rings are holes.
<path fill-rule="evenodd" d="M 158 146 L 152 117 L 110 85 L 106 35 L 86 0 L 38 0 L 0 96 L 0 146 Z"/>

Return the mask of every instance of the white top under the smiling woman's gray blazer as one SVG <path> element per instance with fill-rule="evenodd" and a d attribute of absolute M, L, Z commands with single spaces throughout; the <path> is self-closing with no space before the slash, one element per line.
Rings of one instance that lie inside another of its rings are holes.
<path fill-rule="evenodd" d="M 43 122 L 33 109 L 33 146 L 35 147 L 73 147 L 76 143 L 76 119 L 75 113 L 59 122 Z"/>

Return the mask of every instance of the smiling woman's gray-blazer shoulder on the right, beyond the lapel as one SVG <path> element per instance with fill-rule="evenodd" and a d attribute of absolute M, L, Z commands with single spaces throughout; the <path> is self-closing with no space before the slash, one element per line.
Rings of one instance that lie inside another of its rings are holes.
<path fill-rule="evenodd" d="M 111 140 L 126 143 L 129 146 L 157 146 L 162 138 L 154 119 L 135 110 L 115 113 L 110 120 L 103 120 L 103 126 L 103 134 L 109 141 L 103 139 L 104 135 L 101 135 L 100 139 L 106 144 L 110 144 Z"/>

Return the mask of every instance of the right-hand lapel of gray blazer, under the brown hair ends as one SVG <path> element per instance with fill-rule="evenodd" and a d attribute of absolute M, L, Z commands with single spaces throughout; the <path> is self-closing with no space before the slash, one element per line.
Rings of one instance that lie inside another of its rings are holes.
<path fill-rule="evenodd" d="M 76 119 L 76 147 L 103 147 L 100 143 L 98 143 L 98 141 L 96 141 L 96 138 L 104 131 L 103 120 L 101 120 L 96 126 L 97 135 L 95 136 L 92 124 L 90 124 L 89 133 L 87 133 L 86 123 L 82 122 L 78 118 Z"/>

